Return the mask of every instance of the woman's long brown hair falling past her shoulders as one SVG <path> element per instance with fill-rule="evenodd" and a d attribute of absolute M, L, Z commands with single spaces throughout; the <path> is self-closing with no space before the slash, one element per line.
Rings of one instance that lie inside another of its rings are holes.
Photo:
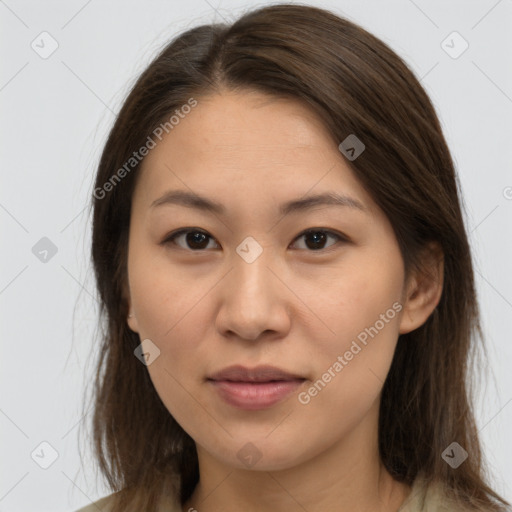
<path fill-rule="evenodd" d="M 184 503 L 199 477 L 193 439 L 133 354 L 141 340 L 126 322 L 126 264 L 140 163 L 126 162 L 190 98 L 200 104 L 222 89 L 301 101 L 336 145 L 355 134 L 365 151 L 347 163 L 393 225 L 406 272 L 427 243 L 442 248 L 440 303 L 423 326 L 399 337 L 383 387 L 380 456 L 398 481 L 412 485 L 422 476 L 470 510 L 502 510 L 506 502 L 486 483 L 472 409 L 471 361 L 482 336 L 459 184 L 432 103 L 400 57 L 360 26 L 281 4 L 171 41 L 133 86 L 101 156 L 92 198 L 102 320 L 92 426 L 99 467 L 119 491 L 114 512 L 129 505 L 153 512 L 173 485 Z M 469 454 L 457 469 L 441 457 L 454 441 Z"/>

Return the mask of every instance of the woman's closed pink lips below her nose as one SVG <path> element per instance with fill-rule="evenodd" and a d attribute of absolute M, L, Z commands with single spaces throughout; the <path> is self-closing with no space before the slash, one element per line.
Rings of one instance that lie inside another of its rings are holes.
<path fill-rule="evenodd" d="M 207 381 L 229 405 L 245 410 L 272 407 L 295 391 L 306 379 L 274 366 L 230 366 Z"/>

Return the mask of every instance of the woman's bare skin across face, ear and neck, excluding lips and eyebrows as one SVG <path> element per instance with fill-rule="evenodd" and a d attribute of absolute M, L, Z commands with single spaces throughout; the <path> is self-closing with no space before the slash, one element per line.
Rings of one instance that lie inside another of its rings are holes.
<path fill-rule="evenodd" d="M 151 208 L 171 189 L 206 196 L 226 212 Z M 283 202 L 326 191 L 364 209 L 278 213 Z M 178 228 L 210 238 L 199 250 L 185 236 L 162 243 Z M 309 228 L 346 240 L 329 236 L 315 249 L 300 236 Z M 236 252 L 247 236 L 262 248 L 252 263 Z M 159 348 L 150 377 L 197 446 L 200 482 L 183 511 L 400 507 L 410 488 L 380 461 L 379 399 L 398 335 L 422 325 L 440 298 L 442 264 L 430 252 L 424 263 L 428 274 L 405 276 L 389 220 L 306 106 L 251 91 L 198 99 L 143 162 L 128 249 L 128 324 Z M 298 392 L 395 302 L 401 311 L 301 403 Z M 270 364 L 306 380 L 268 409 L 241 410 L 205 380 L 232 364 Z M 237 457 L 248 442 L 261 455 L 252 467 Z"/>

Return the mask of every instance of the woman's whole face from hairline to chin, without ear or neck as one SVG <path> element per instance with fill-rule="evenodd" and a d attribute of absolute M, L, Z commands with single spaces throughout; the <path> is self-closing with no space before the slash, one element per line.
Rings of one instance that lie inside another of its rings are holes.
<path fill-rule="evenodd" d="M 405 331 L 403 261 L 305 106 L 198 98 L 143 161 L 128 281 L 152 382 L 205 456 L 284 469 L 375 441 Z M 215 375 L 233 365 L 246 371 Z"/>

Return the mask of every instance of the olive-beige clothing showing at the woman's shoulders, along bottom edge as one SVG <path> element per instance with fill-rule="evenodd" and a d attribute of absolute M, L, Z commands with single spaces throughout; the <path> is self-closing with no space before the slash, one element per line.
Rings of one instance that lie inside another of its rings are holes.
<path fill-rule="evenodd" d="M 110 494 L 91 505 L 87 505 L 75 512 L 110 512 L 110 503 L 113 494 Z M 127 512 L 132 512 L 127 511 Z M 134 511 L 135 512 L 135 511 Z M 158 512 L 182 512 L 179 500 L 175 497 L 171 502 L 158 509 Z M 453 504 L 448 504 L 439 490 L 439 487 L 427 487 L 422 480 L 417 479 L 412 486 L 411 493 L 405 499 L 405 502 L 396 512 L 465 512 L 461 508 L 456 508 Z"/>

